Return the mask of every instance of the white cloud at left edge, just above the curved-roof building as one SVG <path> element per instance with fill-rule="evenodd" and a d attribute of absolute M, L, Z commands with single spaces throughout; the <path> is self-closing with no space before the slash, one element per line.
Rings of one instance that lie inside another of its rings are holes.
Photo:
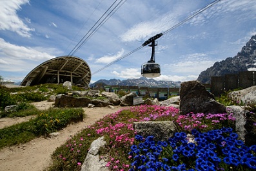
<path fill-rule="evenodd" d="M 37 49 L 41 49 L 42 51 L 39 51 Z M 50 49 L 50 51 L 52 50 L 53 49 Z M 5 42 L 4 39 L 0 38 L 0 54 L 2 56 L 1 58 L 6 57 L 26 60 L 46 60 L 55 57 L 43 51 L 47 50 L 43 50 L 43 48 L 17 46 L 14 44 L 10 44 L 9 42 Z"/>

